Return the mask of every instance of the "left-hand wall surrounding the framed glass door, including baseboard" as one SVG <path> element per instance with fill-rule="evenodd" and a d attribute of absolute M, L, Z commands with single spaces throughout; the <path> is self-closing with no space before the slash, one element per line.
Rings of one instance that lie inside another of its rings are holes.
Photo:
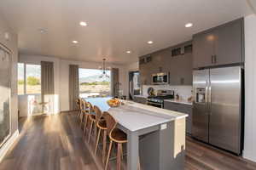
<path fill-rule="evenodd" d="M 5 39 L 5 33 L 9 33 L 9 40 Z M 18 59 L 18 48 L 17 48 L 17 35 L 14 31 L 8 26 L 8 23 L 0 16 L 0 44 L 9 48 L 12 52 L 12 77 L 11 77 L 11 135 L 12 137 L 6 141 L 5 144 L 0 148 L 0 161 L 3 155 L 9 148 L 9 145 L 12 144 L 15 139 L 14 136 L 18 134 L 18 108 L 17 108 L 17 59 Z"/>

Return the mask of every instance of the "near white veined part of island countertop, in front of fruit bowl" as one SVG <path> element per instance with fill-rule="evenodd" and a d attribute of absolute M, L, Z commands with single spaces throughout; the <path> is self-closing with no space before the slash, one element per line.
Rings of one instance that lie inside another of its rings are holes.
<path fill-rule="evenodd" d="M 125 105 L 110 108 L 108 112 L 121 126 L 132 132 L 188 116 L 177 111 L 169 111 L 131 101 L 125 101 Z"/>

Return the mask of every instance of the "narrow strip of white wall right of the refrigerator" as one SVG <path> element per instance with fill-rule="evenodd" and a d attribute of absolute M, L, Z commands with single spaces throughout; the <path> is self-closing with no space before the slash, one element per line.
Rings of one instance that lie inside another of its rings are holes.
<path fill-rule="evenodd" d="M 245 17 L 245 143 L 243 156 L 256 161 L 256 14 Z"/>

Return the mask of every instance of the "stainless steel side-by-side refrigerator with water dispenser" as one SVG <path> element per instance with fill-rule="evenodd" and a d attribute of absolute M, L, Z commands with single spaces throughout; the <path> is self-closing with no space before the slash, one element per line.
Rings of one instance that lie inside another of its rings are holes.
<path fill-rule="evenodd" d="M 193 72 L 192 136 L 241 154 L 243 71 L 240 66 Z"/>

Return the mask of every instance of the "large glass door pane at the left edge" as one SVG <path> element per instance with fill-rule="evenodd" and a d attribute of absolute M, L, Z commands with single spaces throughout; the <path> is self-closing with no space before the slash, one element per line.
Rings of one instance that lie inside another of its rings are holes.
<path fill-rule="evenodd" d="M 0 147 L 10 135 L 11 59 L 0 47 Z"/>

